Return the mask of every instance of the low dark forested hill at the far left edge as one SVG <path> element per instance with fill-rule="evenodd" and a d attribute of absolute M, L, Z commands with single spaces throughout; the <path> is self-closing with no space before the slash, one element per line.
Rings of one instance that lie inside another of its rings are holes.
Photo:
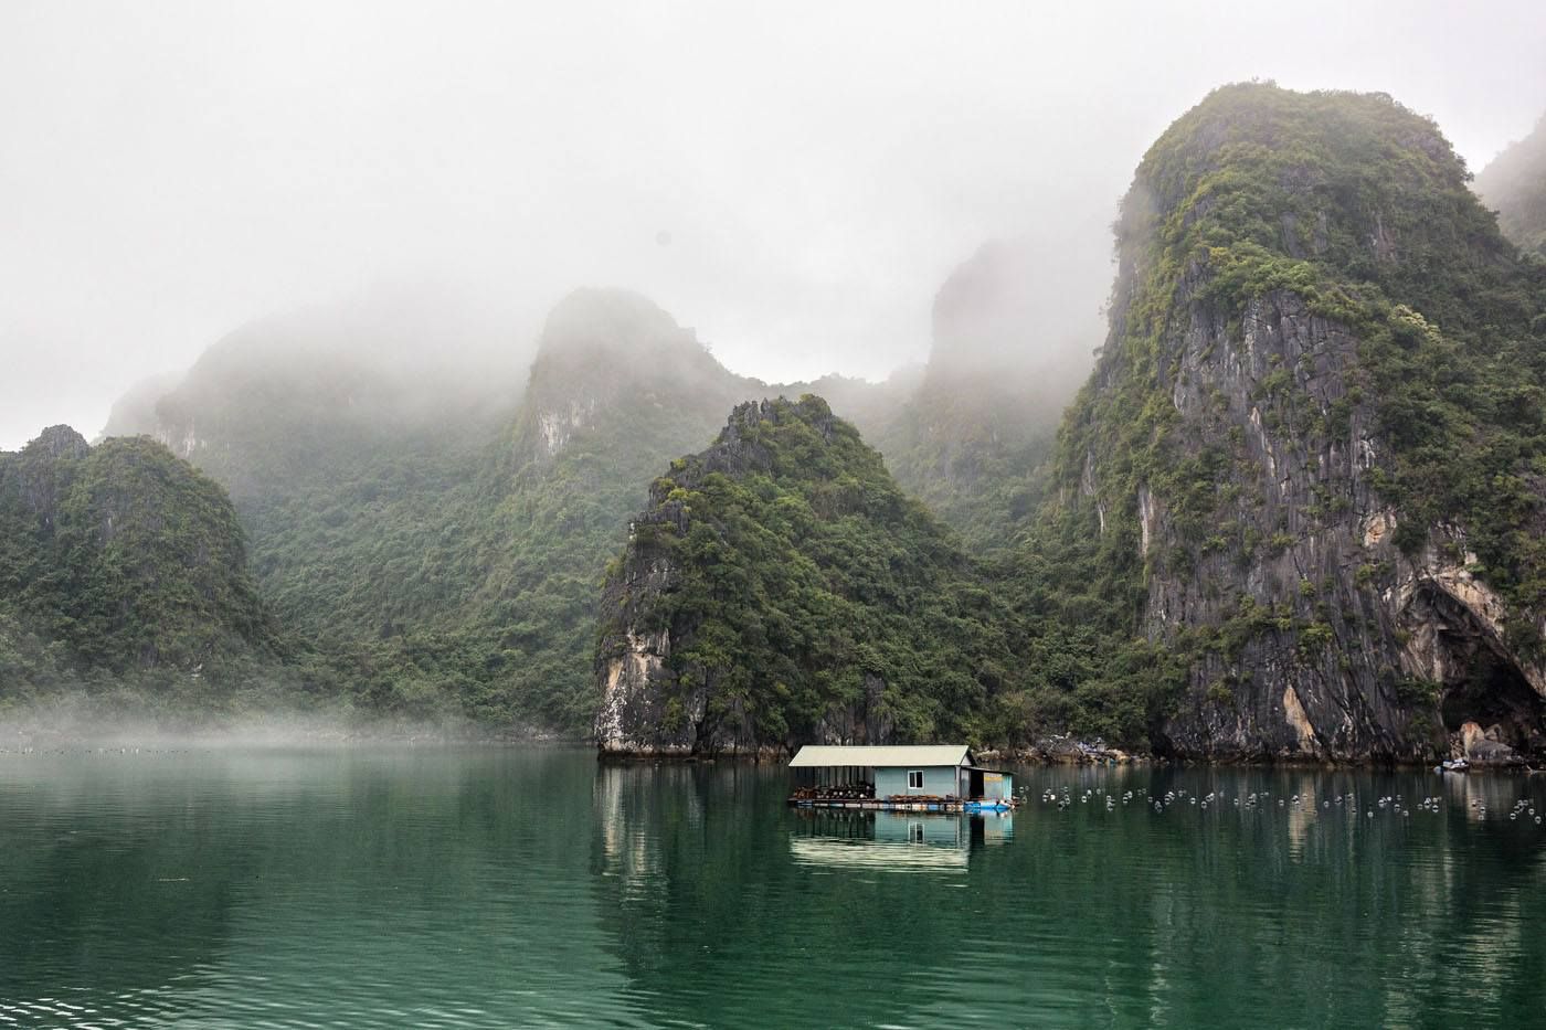
<path fill-rule="evenodd" d="M 100 676 L 199 693 L 275 643 L 229 498 L 165 447 L 54 425 L 0 453 L 0 701 Z"/>

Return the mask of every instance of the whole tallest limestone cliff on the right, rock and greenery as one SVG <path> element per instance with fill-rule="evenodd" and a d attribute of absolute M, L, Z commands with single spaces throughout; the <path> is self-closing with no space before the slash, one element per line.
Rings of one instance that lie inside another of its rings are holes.
<path fill-rule="evenodd" d="M 1486 401 L 1535 396 L 1546 292 L 1463 182 L 1387 97 L 1272 87 L 1217 93 L 1139 169 L 1061 483 L 1132 549 L 1136 628 L 1187 656 L 1160 750 L 1546 753 L 1538 414 Z"/>

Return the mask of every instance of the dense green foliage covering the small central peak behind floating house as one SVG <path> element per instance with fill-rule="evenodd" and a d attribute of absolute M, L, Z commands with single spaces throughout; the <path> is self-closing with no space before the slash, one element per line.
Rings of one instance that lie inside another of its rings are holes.
<path fill-rule="evenodd" d="M 651 500 L 612 591 L 637 563 L 676 571 L 673 589 L 634 599 L 632 628 L 669 628 L 669 690 L 703 690 L 710 727 L 801 741 L 867 708 L 901 739 L 1003 736 L 1014 657 L 1002 602 L 826 401 L 742 405 Z M 866 697 L 869 684 L 883 694 Z"/>

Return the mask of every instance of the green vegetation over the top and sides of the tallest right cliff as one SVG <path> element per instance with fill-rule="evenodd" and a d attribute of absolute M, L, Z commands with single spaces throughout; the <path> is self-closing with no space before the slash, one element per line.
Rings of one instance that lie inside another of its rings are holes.
<path fill-rule="evenodd" d="M 1112 385 L 1068 416 L 1067 490 L 1093 456 L 1116 512 L 1150 486 L 1201 534 L 1231 466 L 1181 425 L 1167 334 L 1200 305 L 1241 339 L 1246 305 L 1285 291 L 1362 340 L 1348 393 L 1391 447 L 1381 493 L 1404 543 L 1463 521 L 1498 585 L 1543 600 L 1523 493 L 1546 453 L 1546 275 L 1498 235 L 1432 122 L 1382 94 L 1220 90 L 1144 158 L 1118 234 Z"/>

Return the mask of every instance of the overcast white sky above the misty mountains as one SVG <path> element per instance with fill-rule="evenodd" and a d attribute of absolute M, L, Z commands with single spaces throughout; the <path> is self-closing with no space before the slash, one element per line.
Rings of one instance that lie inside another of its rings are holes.
<path fill-rule="evenodd" d="M 629 286 L 736 371 L 880 377 L 1030 234 L 1093 319 L 1138 158 L 1249 77 L 1388 91 L 1480 170 L 1546 108 L 1546 3 L 3 0 L 0 448 L 382 280 L 512 340 Z"/>

